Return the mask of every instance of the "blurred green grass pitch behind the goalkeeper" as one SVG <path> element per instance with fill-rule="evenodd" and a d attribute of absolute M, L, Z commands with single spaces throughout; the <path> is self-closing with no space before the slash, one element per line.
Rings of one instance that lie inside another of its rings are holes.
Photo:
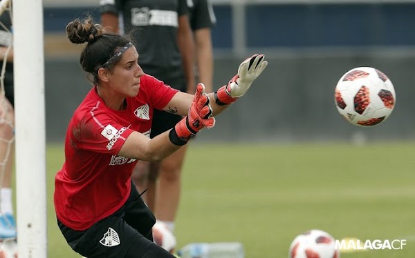
<path fill-rule="evenodd" d="M 415 143 L 190 145 L 176 221 L 178 247 L 241 241 L 248 258 L 288 257 L 311 228 L 336 239 L 407 239 L 403 250 L 342 257 L 414 257 Z M 47 147 L 48 257 L 80 257 L 64 241 L 53 210 L 62 146 Z"/>

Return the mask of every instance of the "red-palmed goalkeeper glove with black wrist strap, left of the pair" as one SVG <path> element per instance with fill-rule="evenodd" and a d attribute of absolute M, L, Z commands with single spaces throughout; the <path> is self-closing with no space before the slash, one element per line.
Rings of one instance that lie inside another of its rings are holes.
<path fill-rule="evenodd" d="M 205 93 L 205 86 L 203 83 L 198 83 L 189 114 L 170 130 L 169 139 L 175 145 L 185 145 L 202 128 L 212 128 L 214 123 L 212 107 L 209 104 L 209 97 Z"/>

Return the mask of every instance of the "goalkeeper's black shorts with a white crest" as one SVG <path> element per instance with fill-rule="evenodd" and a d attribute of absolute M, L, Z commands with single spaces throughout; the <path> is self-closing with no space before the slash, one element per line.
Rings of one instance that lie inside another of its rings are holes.
<path fill-rule="evenodd" d="M 153 213 L 131 183 L 131 193 L 124 206 L 91 228 L 73 230 L 59 219 L 57 225 L 69 246 L 84 257 L 174 257 L 154 244 L 151 228 L 155 222 Z"/>

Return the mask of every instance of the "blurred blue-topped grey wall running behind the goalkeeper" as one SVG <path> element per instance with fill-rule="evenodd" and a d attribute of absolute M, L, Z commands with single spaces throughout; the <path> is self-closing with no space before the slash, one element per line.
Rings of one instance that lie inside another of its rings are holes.
<path fill-rule="evenodd" d="M 226 83 L 243 60 L 232 51 L 235 48 L 241 48 L 244 57 L 254 49 L 264 52 L 270 64 L 249 94 L 218 117 L 214 130 L 201 134 L 199 140 L 297 141 L 356 135 L 415 139 L 415 2 L 248 4 L 242 8 L 244 19 L 235 19 L 241 15 L 240 7 L 214 6 L 214 85 Z M 98 21 L 96 7 L 45 8 L 46 34 L 64 35 L 66 24 L 86 12 Z M 237 20 L 243 24 L 235 24 Z M 77 59 L 77 55 L 46 59 L 49 141 L 62 140 L 73 110 L 89 90 Z M 349 125 L 333 101 L 335 83 L 358 66 L 382 70 L 396 88 L 394 113 L 370 130 Z M 57 97 L 62 92 L 66 92 L 64 100 Z"/>

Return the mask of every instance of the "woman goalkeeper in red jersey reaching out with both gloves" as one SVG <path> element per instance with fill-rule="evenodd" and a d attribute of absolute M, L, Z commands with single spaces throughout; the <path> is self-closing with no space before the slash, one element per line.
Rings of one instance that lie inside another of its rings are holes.
<path fill-rule="evenodd" d="M 91 18 L 71 21 L 66 34 L 87 43 L 80 63 L 94 86 L 66 132 L 65 162 L 55 177 L 57 224 L 84 257 L 173 257 L 152 241 L 155 218 L 131 187 L 133 167 L 138 160 L 160 161 L 213 127 L 213 115 L 244 95 L 266 68 L 264 55 L 243 61 L 216 92 L 205 94 L 199 83 L 189 95 L 146 75 L 129 39 L 105 33 Z M 149 139 L 154 109 L 185 117 Z"/>

